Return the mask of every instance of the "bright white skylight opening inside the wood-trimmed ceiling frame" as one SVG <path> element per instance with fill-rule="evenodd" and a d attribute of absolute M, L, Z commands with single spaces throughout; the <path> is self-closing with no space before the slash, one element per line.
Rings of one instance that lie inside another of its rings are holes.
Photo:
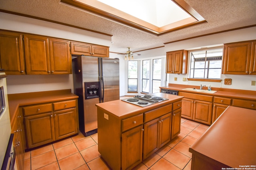
<path fill-rule="evenodd" d="M 191 16 L 171 0 L 98 0 L 143 21 L 162 27 Z"/>

